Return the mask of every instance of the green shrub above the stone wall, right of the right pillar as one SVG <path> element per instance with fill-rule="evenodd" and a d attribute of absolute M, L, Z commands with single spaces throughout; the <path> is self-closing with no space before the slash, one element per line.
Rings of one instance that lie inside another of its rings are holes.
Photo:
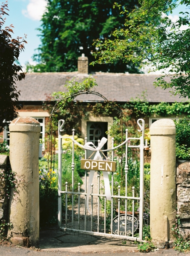
<path fill-rule="evenodd" d="M 176 158 L 190 160 L 190 120 L 174 120 L 176 124 Z"/>

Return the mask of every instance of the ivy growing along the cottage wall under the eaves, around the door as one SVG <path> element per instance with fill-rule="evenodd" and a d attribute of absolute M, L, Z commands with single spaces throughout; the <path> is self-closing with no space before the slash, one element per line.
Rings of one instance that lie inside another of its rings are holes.
<path fill-rule="evenodd" d="M 52 111 L 51 101 L 44 103 L 46 109 Z M 121 112 L 122 110 L 122 120 Z M 112 102 L 74 102 L 70 100 L 60 106 L 59 111 L 55 113 L 55 131 L 57 131 L 57 122 L 59 119 L 65 119 L 64 130 L 67 134 L 72 134 L 72 128 L 75 133 L 81 136 L 81 119 L 88 119 L 89 116 L 112 116 L 114 119 L 113 126 L 109 129 L 110 136 L 115 138 L 115 144 L 121 143 L 125 136 L 125 129 L 128 128 L 130 137 L 138 134 L 136 120 L 146 117 L 183 117 L 190 118 L 190 102 L 160 102 L 150 103 L 144 99 L 132 99 L 130 102 L 118 103 Z M 121 124 L 122 123 L 122 124 Z M 145 139 L 150 140 L 149 129 L 146 126 Z"/>

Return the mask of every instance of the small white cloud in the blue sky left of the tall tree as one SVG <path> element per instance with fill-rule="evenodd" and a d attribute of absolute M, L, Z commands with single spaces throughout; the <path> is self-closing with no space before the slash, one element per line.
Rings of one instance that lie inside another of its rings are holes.
<path fill-rule="evenodd" d="M 26 10 L 22 10 L 22 14 L 32 20 L 40 20 L 45 12 L 46 0 L 29 0 Z"/>

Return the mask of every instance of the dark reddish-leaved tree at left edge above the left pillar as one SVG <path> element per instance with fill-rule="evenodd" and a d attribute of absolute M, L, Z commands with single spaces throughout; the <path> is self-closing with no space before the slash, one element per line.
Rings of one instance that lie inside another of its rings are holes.
<path fill-rule="evenodd" d="M 21 108 L 18 103 L 20 92 L 17 91 L 16 81 L 25 78 L 20 65 L 15 64 L 20 52 L 24 49 L 24 38 L 12 39 L 13 25 L 3 29 L 7 14 L 7 2 L 0 9 L 0 129 L 6 125 L 7 121 L 14 118 L 15 106 Z M 9 11 L 9 10 L 8 10 Z"/>

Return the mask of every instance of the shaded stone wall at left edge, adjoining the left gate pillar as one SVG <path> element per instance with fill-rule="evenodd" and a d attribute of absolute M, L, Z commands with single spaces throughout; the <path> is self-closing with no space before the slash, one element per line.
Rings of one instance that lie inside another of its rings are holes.
<path fill-rule="evenodd" d="M 6 171 L 7 165 L 9 164 L 9 156 L 0 155 L 0 173 Z M 8 218 L 8 197 L 6 196 L 6 181 L 3 180 L 3 177 L 0 177 L 0 223 Z M 0 240 L 1 240 L 0 234 Z"/>

